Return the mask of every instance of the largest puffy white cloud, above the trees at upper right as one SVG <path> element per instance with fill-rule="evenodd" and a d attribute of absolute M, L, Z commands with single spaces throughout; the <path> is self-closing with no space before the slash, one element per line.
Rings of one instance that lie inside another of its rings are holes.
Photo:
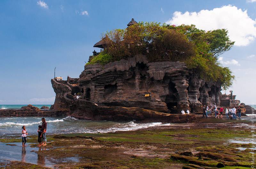
<path fill-rule="evenodd" d="M 172 19 L 166 23 L 170 25 L 193 24 L 206 31 L 224 28 L 228 30 L 229 38 L 236 41 L 236 46 L 247 46 L 256 38 L 256 20 L 248 16 L 247 10 L 243 11 L 232 5 L 199 12 L 176 11 Z"/>

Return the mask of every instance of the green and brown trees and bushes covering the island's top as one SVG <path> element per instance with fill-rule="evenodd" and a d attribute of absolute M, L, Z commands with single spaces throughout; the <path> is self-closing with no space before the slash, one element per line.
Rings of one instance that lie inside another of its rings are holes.
<path fill-rule="evenodd" d="M 228 67 L 221 67 L 218 56 L 231 49 L 228 31 L 204 31 L 195 25 L 161 25 L 140 22 L 126 29 L 109 31 L 102 38 L 105 45 L 100 53 L 87 64 L 102 65 L 129 56 L 144 54 L 150 62 L 183 61 L 187 67 L 206 81 L 220 81 L 227 89 L 234 76 Z"/>

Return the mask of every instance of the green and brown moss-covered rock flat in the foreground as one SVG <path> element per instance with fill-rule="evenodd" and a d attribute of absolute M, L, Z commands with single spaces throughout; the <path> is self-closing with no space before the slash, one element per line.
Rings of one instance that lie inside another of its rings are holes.
<path fill-rule="evenodd" d="M 251 136 L 250 129 L 234 127 L 236 123 L 240 122 L 105 134 L 48 135 L 47 149 L 37 151 L 37 154 L 56 164 L 57 168 L 209 168 L 217 167 L 219 163 L 224 164 L 225 169 L 248 168 L 251 166 L 250 149 L 241 151 L 236 148 L 251 148 L 252 145 L 228 143 L 229 139 Z M 5 137 L 0 141 L 20 142 L 20 138 Z M 35 143 L 30 146 L 36 146 L 37 137 L 29 136 L 28 142 Z M 184 151 L 190 151 L 192 155 L 180 155 Z M 65 160 L 73 157 L 77 160 Z"/>

